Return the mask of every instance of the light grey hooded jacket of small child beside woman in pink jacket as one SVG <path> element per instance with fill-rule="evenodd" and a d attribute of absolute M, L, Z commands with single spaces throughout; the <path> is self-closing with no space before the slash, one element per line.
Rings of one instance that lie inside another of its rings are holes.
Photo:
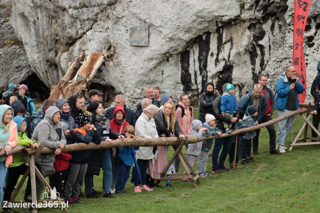
<path fill-rule="evenodd" d="M 210 130 L 199 130 L 197 131 L 197 129 L 199 127 L 202 127 L 202 122 L 199 120 L 193 120 L 191 123 L 192 126 L 192 131 L 190 135 L 195 135 L 198 139 L 200 139 L 202 136 L 205 137 L 210 137 L 211 133 Z M 188 149 L 187 149 L 187 154 L 191 154 L 191 155 L 199 155 L 201 152 L 201 146 L 202 146 L 202 141 L 198 141 L 195 144 L 189 144 L 188 145 Z"/>

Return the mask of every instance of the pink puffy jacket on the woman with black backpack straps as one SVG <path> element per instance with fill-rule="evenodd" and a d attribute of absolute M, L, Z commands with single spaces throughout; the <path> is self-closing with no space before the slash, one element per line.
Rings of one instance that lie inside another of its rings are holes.
<path fill-rule="evenodd" d="M 190 135 L 192 130 L 192 121 L 193 121 L 193 107 L 192 106 L 184 106 L 181 101 L 178 103 L 184 109 L 184 115 L 182 117 L 182 109 L 180 107 L 176 110 L 176 119 L 178 120 L 179 130 L 181 134 Z M 191 107 L 191 113 L 190 113 Z"/>

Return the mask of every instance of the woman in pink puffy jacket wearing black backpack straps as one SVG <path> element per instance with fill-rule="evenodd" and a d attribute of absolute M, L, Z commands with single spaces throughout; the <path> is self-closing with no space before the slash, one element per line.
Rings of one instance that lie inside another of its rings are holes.
<path fill-rule="evenodd" d="M 193 121 L 193 107 L 189 106 L 189 97 L 187 94 L 180 95 L 180 101 L 176 106 L 176 118 L 178 120 L 178 126 L 181 134 L 190 135 Z M 188 149 L 188 144 L 186 144 L 186 149 Z M 180 161 L 176 157 L 174 159 L 174 169 L 176 172 L 179 170 Z"/>

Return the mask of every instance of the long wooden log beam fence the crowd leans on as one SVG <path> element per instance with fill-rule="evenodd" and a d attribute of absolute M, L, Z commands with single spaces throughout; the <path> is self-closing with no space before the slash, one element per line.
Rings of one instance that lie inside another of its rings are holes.
<path fill-rule="evenodd" d="M 299 106 L 308 106 L 308 104 L 305 103 L 300 103 Z M 312 106 L 312 104 L 311 104 Z M 258 130 L 263 127 L 269 126 L 271 124 L 274 124 L 276 122 L 282 121 L 288 117 L 294 116 L 296 114 L 303 114 L 308 111 L 308 108 L 302 108 L 298 109 L 295 111 L 292 111 L 288 114 L 285 114 L 281 117 L 278 117 L 276 119 L 273 119 L 271 121 L 259 124 L 257 126 L 249 127 L 249 128 L 244 128 L 244 129 L 239 129 L 235 130 L 231 133 L 224 133 L 221 136 L 215 135 L 215 136 L 210 136 L 210 137 L 201 137 L 200 139 L 196 138 L 194 135 L 188 135 L 188 140 L 184 141 L 184 144 L 194 144 L 197 141 L 205 140 L 205 139 L 213 139 L 213 138 L 224 138 L 224 137 L 229 137 L 232 135 L 236 135 L 239 133 L 243 132 L 248 132 L 252 130 Z M 115 147 L 123 147 L 123 146 L 178 146 L 180 144 L 180 139 L 177 137 L 168 137 L 168 138 L 137 138 L 136 140 L 132 138 L 127 138 L 124 140 L 117 139 L 112 141 L 112 144 L 110 144 L 107 141 L 102 141 L 101 144 L 95 144 L 95 143 L 89 143 L 89 144 L 84 144 L 84 143 L 76 143 L 76 144 L 70 144 L 66 145 L 66 147 L 62 150 L 62 152 L 72 152 L 72 151 L 81 151 L 81 150 L 94 150 L 94 149 L 109 149 L 109 148 L 115 148 Z M 11 154 L 21 152 L 22 150 L 26 152 L 27 154 L 35 154 L 37 149 L 32 149 L 32 148 L 23 148 L 25 146 L 16 146 L 12 148 Z M 42 152 L 43 154 L 48 154 L 48 153 L 54 153 L 54 149 L 50 149 L 48 147 L 44 147 Z M 0 151 L 0 156 L 6 155 L 4 150 Z"/>

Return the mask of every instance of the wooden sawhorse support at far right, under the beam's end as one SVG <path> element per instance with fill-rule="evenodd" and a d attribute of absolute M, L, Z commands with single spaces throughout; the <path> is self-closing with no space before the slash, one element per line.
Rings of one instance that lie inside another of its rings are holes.
<path fill-rule="evenodd" d="M 309 121 L 309 119 L 311 118 L 311 114 L 310 112 L 310 107 L 311 107 L 311 102 L 309 102 L 308 105 L 308 111 L 307 111 L 307 117 L 304 116 L 303 114 L 300 114 L 301 117 L 304 120 L 303 125 L 301 126 L 300 131 L 298 132 L 297 136 L 294 138 L 294 140 L 291 142 L 289 151 L 292 150 L 293 146 L 305 146 L 305 145 L 312 145 L 312 144 L 320 144 L 320 138 L 312 138 L 312 137 L 307 137 L 307 132 L 308 132 L 308 125 L 311 127 L 311 129 L 313 129 L 318 136 L 320 136 L 320 132 L 312 125 L 312 123 Z M 298 139 L 302 133 L 302 131 L 304 130 L 304 135 L 303 138 Z M 316 142 L 306 142 L 306 140 L 316 140 Z M 297 143 L 297 142 L 301 142 L 302 143 Z"/>

